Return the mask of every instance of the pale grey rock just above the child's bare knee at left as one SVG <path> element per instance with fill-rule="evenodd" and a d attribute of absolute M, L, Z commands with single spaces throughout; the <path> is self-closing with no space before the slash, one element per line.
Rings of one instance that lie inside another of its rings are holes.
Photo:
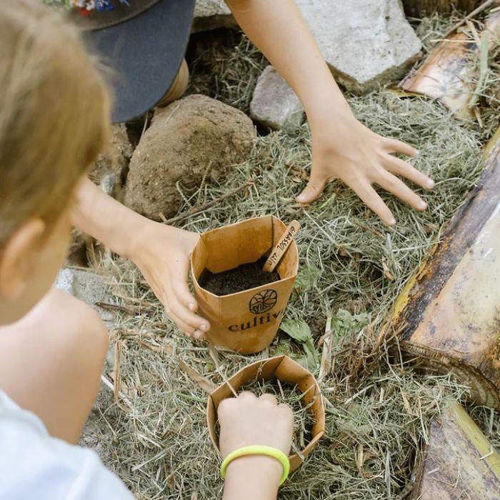
<path fill-rule="evenodd" d="M 89 271 L 79 271 L 78 269 L 61 269 L 54 283 L 54 288 L 65 291 L 76 299 L 80 299 L 95 309 L 102 321 L 111 324 L 114 321 L 114 314 L 111 311 L 96 306 L 96 302 L 109 302 L 111 296 L 107 289 L 106 282 L 99 274 Z"/>

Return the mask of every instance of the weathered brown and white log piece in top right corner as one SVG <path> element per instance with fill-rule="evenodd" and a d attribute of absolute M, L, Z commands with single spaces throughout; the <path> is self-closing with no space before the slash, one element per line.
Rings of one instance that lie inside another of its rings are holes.
<path fill-rule="evenodd" d="M 486 39 L 484 37 L 487 36 Z M 410 71 L 399 87 L 406 92 L 422 94 L 441 101 L 461 119 L 474 115 L 469 106 L 474 95 L 481 45 L 490 51 L 500 41 L 500 12 L 494 12 L 486 21 L 485 29 L 474 41 L 472 34 L 456 33 L 439 42 L 421 66 Z"/>

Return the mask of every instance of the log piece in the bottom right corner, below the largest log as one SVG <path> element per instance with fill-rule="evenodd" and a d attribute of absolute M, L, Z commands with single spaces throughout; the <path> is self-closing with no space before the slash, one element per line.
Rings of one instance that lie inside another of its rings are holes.
<path fill-rule="evenodd" d="M 414 500 L 499 500 L 500 455 L 456 402 L 431 422 Z"/>

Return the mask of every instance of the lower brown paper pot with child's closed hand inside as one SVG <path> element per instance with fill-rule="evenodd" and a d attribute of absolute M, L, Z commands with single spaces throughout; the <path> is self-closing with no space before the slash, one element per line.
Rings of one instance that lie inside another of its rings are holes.
<path fill-rule="evenodd" d="M 298 391 L 304 394 L 302 403 L 304 406 L 311 406 L 309 410 L 314 416 L 314 426 L 311 429 L 312 439 L 307 446 L 301 450 L 300 454 L 289 456 L 291 471 L 299 469 L 303 459 L 308 456 L 316 443 L 321 439 L 325 429 L 325 411 L 321 391 L 314 376 L 305 368 L 290 359 L 288 356 L 276 356 L 274 358 L 256 361 L 245 366 L 236 372 L 228 380 L 235 391 L 238 391 L 245 384 L 252 381 L 264 381 L 278 379 L 286 384 L 294 384 Z M 223 399 L 234 396 L 228 382 L 219 386 L 209 396 L 209 404 L 206 410 L 206 418 L 209 424 L 209 432 L 212 443 L 219 449 L 219 436 L 216 431 L 217 409 Z"/>

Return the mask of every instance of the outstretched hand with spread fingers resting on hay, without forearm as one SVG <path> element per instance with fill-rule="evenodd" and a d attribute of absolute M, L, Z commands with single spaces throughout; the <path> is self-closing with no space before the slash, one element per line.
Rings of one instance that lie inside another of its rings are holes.
<path fill-rule="evenodd" d="M 341 179 L 369 206 L 385 224 L 396 224 L 389 207 L 373 188 L 378 184 L 386 191 L 423 211 L 427 205 L 404 184 L 404 177 L 415 184 L 432 189 L 434 181 L 406 161 L 393 156 L 401 153 L 416 156 L 418 151 L 396 139 L 375 134 L 352 115 L 328 116 L 311 122 L 313 139 L 312 167 L 309 182 L 297 197 L 301 204 L 317 199 L 330 179 Z"/>

